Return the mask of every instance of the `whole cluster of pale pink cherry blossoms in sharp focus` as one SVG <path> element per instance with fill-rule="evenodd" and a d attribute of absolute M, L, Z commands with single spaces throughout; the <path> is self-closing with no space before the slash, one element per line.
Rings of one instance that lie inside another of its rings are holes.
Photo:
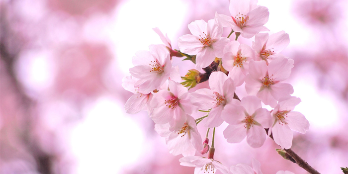
<path fill-rule="evenodd" d="M 223 174 L 261 174 L 256 160 L 254 169 L 243 164 L 229 169 L 214 159 L 215 128 L 223 122 L 228 124 L 223 132 L 228 143 L 246 138 L 253 148 L 261 147 L 266 137 L 272 136 L 282 149 L 289 149 L 292 130 L 305 133 L 309 129 L 305 116 L 293 111 L 300 98 L 291 96 L 293 87 L 284 83 L 294 64 L 280 54 L 289 44 L 289 35 L 285 31 L 266 32 L 263 25 L 269 12 L 256 0 L 230 0 L 229 10 L 230 15 L 216 13 L 207 22 L 188 24 L 191 34 L 178 38 L 179 50 L 172 48 L 167 35 L 154 28 L 164 44 L 138 51 L 132 59 L 134 67 L 129 69 L 131 76 L 123 79 L 123 87 L 134 93 L 125 104 L 127 113 L 147 110 L 155 130 L 166 138 L 169 152 L 182 154 L 180 164 L 196 167 L 195 174 L 216 170 Z M 235 40 L 222 36 L 224 28 L 232 29 L 229 36 L 235 32 Z M 239 36 L 255 40 L 248 46 L 238 42 Z M 185 57 L 195 63 L 196 69 L 180 77 L 178 67 L 172 65 L 173 57 Z M 209 88 L 190 91 L 205 81 Z M 240 99 L 235 90 L 243 84 L 248 96 Z M 263 108 L 262 103 L 273 109 Z M 194 118 L 197 112 L 207 115 Z M 197 129 L 202 120 L 206 137 Z M 209 145 L 210 129 L 214 133 Z M 195 156 L 208 152 L 207 158 Z"/>

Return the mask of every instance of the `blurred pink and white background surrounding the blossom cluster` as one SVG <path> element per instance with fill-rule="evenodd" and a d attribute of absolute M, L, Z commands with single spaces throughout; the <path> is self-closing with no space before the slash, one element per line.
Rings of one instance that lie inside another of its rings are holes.
<path fill-rule="evenodd" d="M 287 80 L 310 122 L 292 149 L 322 174 L 348 166 L 348 1 L 259 0 L 270 33 L 289 33 Z M 228 0 L 0 0 L 0 174 L 193 174 L 169 154 L 146 111 L 127 114 L 121 87 L 132 57 L 177 38 L 193 20 L 230 15 Z M 224 28 L 224 36 L 230 32 Z M 234 38 L 234 35 L 231 36 Z M 240 42 L 252 44 L 252 39 Z M 180 75 L 194 65 L 174 58 Z M 198 85 L 207 87 L 206 83 Z M 237 88 L 240 97 L 244 87 Z M 217 128 L 215 159 L 252 158 L 264 174 L 302 168 L 277 155 L 267 138 L 253 149 L 229 144 Z M 206 129 L 199 124 L 204 136 Z"/>

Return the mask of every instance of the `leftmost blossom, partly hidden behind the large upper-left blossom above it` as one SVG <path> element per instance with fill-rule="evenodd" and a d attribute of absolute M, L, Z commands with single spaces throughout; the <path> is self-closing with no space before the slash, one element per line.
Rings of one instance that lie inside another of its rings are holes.
<path fill-rule="evenodd" d="M 134 84 L 138 80 L 139 79 L 136 79 L 132 76 L 127 76 L 122 79 L 122 87 L 134 93 L 134 95 L 132 95 L 124 105 L 124 109 L 127 113 L 133 114 L 140 112 L 146 104 L 150 103 L 153 96 L 152 92 L 142 93 L 139 87 L 134 87 Z"/>

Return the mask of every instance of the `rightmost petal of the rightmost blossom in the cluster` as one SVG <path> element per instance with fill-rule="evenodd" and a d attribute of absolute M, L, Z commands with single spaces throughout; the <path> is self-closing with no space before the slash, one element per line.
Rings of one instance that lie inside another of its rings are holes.
<path fill-rule="evenodd" d="M 292 130 L 304 134 L 309 129 L 309 122 L 302 113 L 289 112 L 287 116 L 286 122 Z"/>

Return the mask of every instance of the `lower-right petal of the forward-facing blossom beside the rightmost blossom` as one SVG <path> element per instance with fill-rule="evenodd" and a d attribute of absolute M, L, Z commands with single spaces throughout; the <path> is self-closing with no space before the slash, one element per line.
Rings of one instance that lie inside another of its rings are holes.
<path fill-rule="evenodd" d="M 261 127 L 254 125 L 247 132 L 247 142 L 252 148 L 259 148 L 266 140 L 266 131 Z"/>

